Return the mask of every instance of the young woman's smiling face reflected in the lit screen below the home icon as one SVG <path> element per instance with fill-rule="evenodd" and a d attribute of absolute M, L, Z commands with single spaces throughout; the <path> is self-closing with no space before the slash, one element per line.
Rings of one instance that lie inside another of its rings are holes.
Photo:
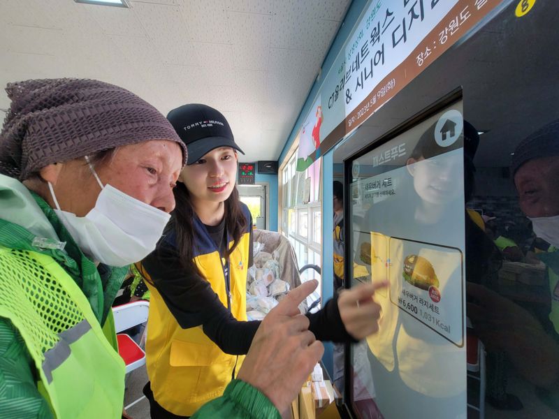
<path fill-rule="evenodd" d="M 460 193 L 461 156 L 408 159 L 407 170 L 414 177 L 414 189 L 426 203 L 444 205 Z"/>

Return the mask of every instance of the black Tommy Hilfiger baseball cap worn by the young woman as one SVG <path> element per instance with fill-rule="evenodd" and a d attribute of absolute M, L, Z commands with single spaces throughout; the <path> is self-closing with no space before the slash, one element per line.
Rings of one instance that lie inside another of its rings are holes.
<path fill-rule="evenodd" d="M 167 119 L 187 145 L 187 165 L 219 147 L 231 147 L 245 154 L 235 143 L 233 132 L 222 112 L 201 103 L 189 103 L 171 110 Z"/>

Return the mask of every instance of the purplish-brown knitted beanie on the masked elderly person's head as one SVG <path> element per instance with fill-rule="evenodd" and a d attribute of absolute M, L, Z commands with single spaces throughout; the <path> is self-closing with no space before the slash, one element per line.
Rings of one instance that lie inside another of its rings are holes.
<path fill-rule="evenodd" d="M 9 83 L 12 103 L 0 133 L 0 173 L 20 180 L 51 163 L 147 140 L 187 149 L 152 105 L 97 80 L 46 79 Z"/>

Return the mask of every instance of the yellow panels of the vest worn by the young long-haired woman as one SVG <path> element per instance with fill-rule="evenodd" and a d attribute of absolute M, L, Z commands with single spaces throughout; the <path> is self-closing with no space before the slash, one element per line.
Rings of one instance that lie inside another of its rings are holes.
<path fill-rule="evenodd" d="M 204 227 L 197 219 L 194 228 L 198 251 L 194 262 L 203 277 L 210 282 L 224 307 L 227 307 L 228 298 L 219 251 L 210 237 L 200 231 Z M 239 321 L 247 321 L 250 229 L 252 226 L 247 226 L 247 231 L 229 258 L 231 314 Z M 232 243 L 229 243 L 230 247 Z M 147 283 L 151 281 L 141 265 L 139 269 L 148 279 Z M 238 372 L 245 357 L 224 353 L 205 335 L 201 325 L 182 329 L 157 288 L 150 284 L 147 286 L 151 297 L 146 361 L 154 398 L 159 405 L 175 415 L 191 416 L 202 404 L 223 394 L 233 378 L 233 372 Z"/>

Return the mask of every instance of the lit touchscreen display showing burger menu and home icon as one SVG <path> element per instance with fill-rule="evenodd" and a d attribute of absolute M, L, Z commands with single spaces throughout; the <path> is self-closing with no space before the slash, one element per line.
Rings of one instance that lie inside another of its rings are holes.
<path fill-rule="evenodd" d="M 351 285 L 389 282 L 376 297 L 379 332 L 351 348 L 363 418 L 466 417 L 470 129 L 458 101 L 347 163 Z"/>

